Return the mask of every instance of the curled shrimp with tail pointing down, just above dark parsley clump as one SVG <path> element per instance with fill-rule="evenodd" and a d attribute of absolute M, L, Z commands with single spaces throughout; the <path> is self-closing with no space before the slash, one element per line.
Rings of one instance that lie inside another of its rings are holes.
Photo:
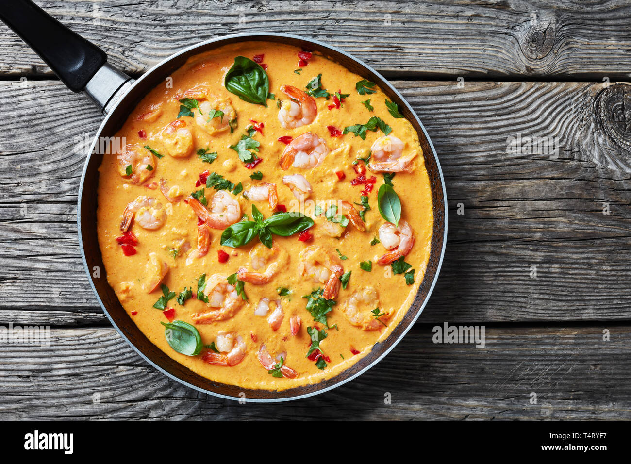
<path fill-rule="evenodd" d="M 338 295 L 339 277 L 344 273 L 342 263 L 336 253 L 319 245 L 305 248 L 298 255 L 298 273 L 324 284 L 322 297 L 335 298 Z"/>

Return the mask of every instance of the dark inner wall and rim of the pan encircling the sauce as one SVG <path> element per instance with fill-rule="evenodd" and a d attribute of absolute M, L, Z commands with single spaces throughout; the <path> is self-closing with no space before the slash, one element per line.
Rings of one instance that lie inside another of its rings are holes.
<path fill-rule="evenodd" d="M 425 277 L 420 285 L 418 294 L 416 294 L 415 300 L 412 304 L 410 311 L 406 313 L 401 323 L 394 328 L 390 336 L 383 342 L 377 343 L 372 352 L 358 361 L 355 365 L 351 366 L 346 371 L 341 372 L 334 378 L 322 381 L 321 383 L 293 388 L 291 390 L 283 391 L 267 391 L 267 390 L 248 390 L 240 388 L 239 386 L 226 385 L 221 383 L 215 383 L 210 381 L 199 374 L 196 374 L 186 367 L 182 366 L 175 360 L 168 357 L 162 350 L 158 349 L 153 343 L 151 343 L 146 336 L 138 329 L 136 324 L 129 318 L 127 312 L 121 306 L 114 290 L 107 283 L 105 277 L 105 267 L 103 266 L 102 256 L 98 247 L 97 240 L 97 186 L 98 186 L 98 167 L 101 164 L 103 156 L 94 153 L 88 158 L 85 166 L 84 177 L 81 183 L 80 192 L 80 205 L 79 205 L 79 222 L 80 222 L 80 235 L 81 245 L 83 247 L 83 254 L 85 256 L 85 266 L 88 276 L 91 279 L 91 283 L 97 296 L 100 299 L 100 303 L 103 306 L 105 313 L 109 316 L 114 326 L 119 330 L 127 340 L 133 345 L 134 348 L 141 354 L 144 359 L 148 360 L 160 371 L 171 376 L 172 378 L 187 384 L 201 391 L 206 391 L 213 395 L 231 397 L 240 399 L 245 394 L 245 400 L 250 401 L 279 401 L 296 399 L 302 396 L 309 396 L 315 393 L 320 393 L 324 390 L 329 390 L 338 384 L 344 383 L 354 376 L 357 376 L 365 369 L 372 366 L 377 360 L 385 355 L 389 350 L 396 345 L 398 340 L 409 330 L 414 323 L 418 315 L 427 302 L 428 295 L 433 289 L 433 285 L 437 278 L 442 263 L 442 256 L 444 253 L 445 234 L 446 234 L 446 214 L 445 214 L 445 191 L 444 182 L 442 179 L 442 172 L 440 171 L 440 165 L 437 160 L 437 155 L 429 140 L 425 129 L 420 121 L 416 117 L 416 114 L 410 108 L 410 106 L 404 102 L 403 98 L 394 90 L 384 78 L 382 78 L 375 71 L 367 67 L 366 65 L 358 62 L 356 59 L 346 54 L 345 52 L 333 49 L 327 45 L 319 42 L 312 42 L 311 40 L 290 36 L 290 35 L 274 35 L 274 34 L 240 34 L 225 37 L 223 39 L 216 39 L 203 44 L 194 45 L 189 47 L 179 54 L 170 57 L 169 59 L 158 64 L 155 68 L 151 69 L 147 74 L 142 76 L 129 90 L 129 93 L 121 99 L 117 107 L 115 107 L 109 116 L 103 121 L 103 125 L 100 131 L 97 133 L 97 139 L 100 137 L 114 136 L 116 131 L 122 126 L 122 123 L 126 121 L 129 113 L 134 109 L 136 104 L 150 92 L 155 86 L 163 85 L 167 76 L 170 76 L 176 69 L 180 68 L 186 60 L 192 55 L 199 54 L 216 47 L 220 47 L 226 44 L 232 44 L 235 42 L 244 42 L 249 40 L 259 40 L 267 42 L 281 42 L 283 44 L 296 45 L 302 49 L 319 52 L 326 57 L 329 57 L 333 61 L 342 64 L 346 68 L 350 69 L 354 73 L 368 78 L 371 81 L 377 83 L 377 85 L 384 90 L 388 97 L 399 105 L 399 109 L 402 109 L 403 114 L 409 121 L 415 126 L 418 132 L 419 140 L 423 148 L 425 156 L 425 167 L 427 169 L 430 184 L 432 187 L 433 196 L 433 235 L 432 235 L 432 248 L 430 253 L 430 259 L 425 271 Z M 100 270 L 100 273 L 96 273 L 96 269 Z M 140 270 L 139 270 L 140 272 Z M 98 275 L 99 277 L 95 277 Z M 240 395 L 241 394 L 241 395 Z"/>

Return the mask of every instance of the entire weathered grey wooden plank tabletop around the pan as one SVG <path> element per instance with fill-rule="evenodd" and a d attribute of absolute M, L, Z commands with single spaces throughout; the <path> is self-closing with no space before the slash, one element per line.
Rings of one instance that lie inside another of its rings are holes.
<path fill-rule="evenodd" d="M 81 265 L 102 116 L 0 25 L 0 323 L 52 336 L 0 347 L 0 419 L 631 419 L 631 4 L 36 1 L 134 76 L 252 31 L 366 61 L 432 137 L 449 242 L 416 326 L 355 381 L 276 405 L 181 386 L 122 341 Z M 510 150 L 520 134 L 558 152 Z M 433 343 L 444 322 L 485 326 L 486 347 Z"/>

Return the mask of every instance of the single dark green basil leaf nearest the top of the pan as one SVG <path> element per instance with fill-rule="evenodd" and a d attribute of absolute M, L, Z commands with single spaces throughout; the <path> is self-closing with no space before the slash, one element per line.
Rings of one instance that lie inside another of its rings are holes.
<path fill-rule="evenodd" d="M 244 56 L 235 57 L 235 62 L 226 74 L 223 85 L 241 100 L 267 106 L 269 93 L 268 74 L 259 64 Z"/>

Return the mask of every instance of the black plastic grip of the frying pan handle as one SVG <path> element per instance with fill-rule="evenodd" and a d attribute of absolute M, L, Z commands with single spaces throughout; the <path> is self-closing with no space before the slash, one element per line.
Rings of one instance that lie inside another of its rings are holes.
<path fill-rule="evenodd" d="M 42 57 L 73 92 L 80 92 L 107 62 L 97 45 L 69 30 L 31 0 L 0 0 L 0 20 Z"/>

